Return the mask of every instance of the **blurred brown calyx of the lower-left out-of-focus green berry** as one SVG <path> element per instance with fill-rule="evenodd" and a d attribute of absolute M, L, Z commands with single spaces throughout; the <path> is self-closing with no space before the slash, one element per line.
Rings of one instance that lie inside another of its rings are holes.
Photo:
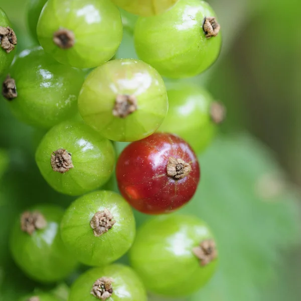
<path fill-rule="evenodd" d="M 25 211 L 21 215 L 21 230 L 32 235 L 35 230 L 44 229 L 47 226 L 45 217 L 39 211 Z"/>

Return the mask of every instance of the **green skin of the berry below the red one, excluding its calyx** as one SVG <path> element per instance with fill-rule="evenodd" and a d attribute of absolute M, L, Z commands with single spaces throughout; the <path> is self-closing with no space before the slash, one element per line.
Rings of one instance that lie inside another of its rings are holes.
<path fill-rule="evenodd" d="M 138 229 L 130 263 L 148 291 L 186 296 L 204 286 L 216 270 L 217 258 L 202 266 L 193 253 L 207 239 L 213 239 L 210 229 L 194 216 L 156 217 Z"/>

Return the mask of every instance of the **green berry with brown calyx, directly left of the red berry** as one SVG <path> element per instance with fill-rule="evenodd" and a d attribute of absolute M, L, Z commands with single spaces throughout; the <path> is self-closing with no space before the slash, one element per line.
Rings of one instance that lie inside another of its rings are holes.
<path fill-rule="evenodd" d="M 115 151 L 109 140 L 86 124 L 66 121 L 46 133 L 37 148 L 36 162 L 53 189 L 78 196 L 109 180 Z"/>

